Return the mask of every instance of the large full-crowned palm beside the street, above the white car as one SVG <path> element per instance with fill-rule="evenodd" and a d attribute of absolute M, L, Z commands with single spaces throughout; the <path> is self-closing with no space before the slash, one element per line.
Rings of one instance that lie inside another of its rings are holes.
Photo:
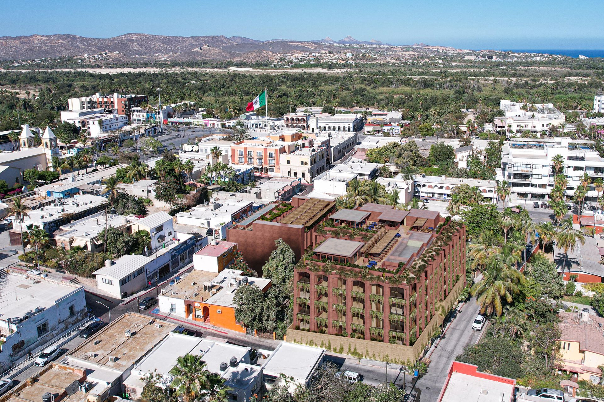
<path fill-rule="evenodd" d="M 518 285 L 524 283 L 524 275 L 498 259 L 487 262 L 483 275 L 483 279 L 471 287 L 470 293 L 477 297 L 482 314 L 500 316 L 503 304 L 512 303 L 513 295 L 519 293 Z"/>

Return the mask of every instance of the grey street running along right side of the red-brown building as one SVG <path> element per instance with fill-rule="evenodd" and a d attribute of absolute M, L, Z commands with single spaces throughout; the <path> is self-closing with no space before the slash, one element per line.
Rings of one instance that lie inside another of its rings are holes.
<path fill-rule="evenodd" d="M 476 304 L 476 298 L 474 297 L 463 304 L 440 343 L 437 344 L 432 354 L 428 353 L 426 355 L 432 361 L 428 367 L 428 372 L 416 384 L 416 388 L 420 392 L 419 401 L 434 402 L 437 400 L 445 383 L 446 373 L 451 362 L 463 352 L 467 345 L 478 341 L 480 333 L 472 330 L 472 321 L 477 316 L 478 310 L 478 304 Z"/>

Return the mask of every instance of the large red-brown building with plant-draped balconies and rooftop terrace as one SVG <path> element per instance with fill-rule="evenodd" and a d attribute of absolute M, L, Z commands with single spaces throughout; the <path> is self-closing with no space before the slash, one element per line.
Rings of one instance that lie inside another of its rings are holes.
<path fill-rule="evenodd" d="M 330 219 L 324 240 L 294 270 L 292 327 L 304 331 L 288 330 L 288 341 L 296 336 L 308 341 L 320 333 L 321 341 L 338 345 L 333 335 L 350 336 L 351 342 L 373 341 L 355 348 L 382 350 L 390 357 L 407 350 L 396 345 L 411 347 L 420 337 L 424 345 L 442 322 L 439 306 L 454 303 L 465 282 L 463 224 L 442 220 L 438 212 L 380 204 L 342 209 Z M 336 228 L 350 228 L 350 236 L 333 236 Z M 352 234 L 352 228 L 360 232 Z"/>

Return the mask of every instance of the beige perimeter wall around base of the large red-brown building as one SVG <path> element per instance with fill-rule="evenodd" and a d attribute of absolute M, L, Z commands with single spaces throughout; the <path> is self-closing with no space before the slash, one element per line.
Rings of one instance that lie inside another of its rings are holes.
<path fill-rule="evenodd" d="M 432 333 L 442 324 L 445 316 L 441 314 L 440 306 L 445 307 L 445 312 L 449 312 L 457 306 L 457 297 L 463 289 L 463 280 L 460 278 L 451 293 L 439 303 L 437 315 L 432 317 L 426 328 L 422 331 L 419 338 L 413 346 L 403 346 L 396 344 L 387 344 L 385 342 L 368 341 L 366 339 L 353 339 L 345 336 L 316 333 L 310 331 L 301 331 L 294 328 L 292 324 L 287 331 L 286 340 L 295 344 L 304 344 L 325 348 L 335 353 L 349 354 L 355 357 L 365 357 L 367 359 L 382 360 L 397 364 L 411 365 L 415 360 L 422 357 L 423 351 L 429 345 Z"/>

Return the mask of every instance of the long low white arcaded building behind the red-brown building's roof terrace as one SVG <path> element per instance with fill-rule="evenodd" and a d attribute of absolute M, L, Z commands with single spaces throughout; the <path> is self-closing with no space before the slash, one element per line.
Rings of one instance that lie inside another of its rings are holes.
<path fill-rule="evenodd" d="M 401 175 L 397 177 L 401 177 Z M 497 202 L 497 194 L 495 193 L 497 182 L 495 180 L 474 178 L 417 175 L 414 179 L 414 195 L 420 199 L 429 198 L 449 201 L 451 199 L 451 192 L 460 184 L 478 187 L 487 202 L 493 204 Z"/>

